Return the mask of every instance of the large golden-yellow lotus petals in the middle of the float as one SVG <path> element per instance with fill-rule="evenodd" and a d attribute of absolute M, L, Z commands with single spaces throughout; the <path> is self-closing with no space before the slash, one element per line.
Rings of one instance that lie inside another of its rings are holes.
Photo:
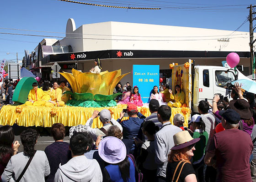
<path fill-rule="evenodd" d="M 60 74 L 67 79 L 73 92 L 111 95 L 117 83 L 129 73 L 121 75 L 121 69 L 111 72 L 103 71 L 100 74 L 82 73 L 72 69 L 72 73 L 63 71 Z"/>

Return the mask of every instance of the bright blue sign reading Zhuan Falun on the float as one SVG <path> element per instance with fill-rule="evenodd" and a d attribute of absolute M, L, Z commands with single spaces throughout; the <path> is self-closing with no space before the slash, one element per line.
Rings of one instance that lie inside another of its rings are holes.
<path fill-rule="evenodd" d="M 143 103 L 149 102 L 154 86 L 159 86 L 159 65 L 133 65 L 133 87 L 139 87 Z"/>

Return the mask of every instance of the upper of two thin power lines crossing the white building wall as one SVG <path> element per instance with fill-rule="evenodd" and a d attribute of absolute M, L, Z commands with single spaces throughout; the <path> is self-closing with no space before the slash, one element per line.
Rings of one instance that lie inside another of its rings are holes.
<path fill-rule="evenodd" d="M 245 22 L 244 22 L 245 23 Z M 242 25 L 240 25 L 241 27 Z M 239 27 L 239 28 L 240 28 Z M 117 36 L 117 37 L 146 37 L 146 38 L 193 38 L 193 37 L 219 37 L 219 36 L 229 36 L 229 35 L 203 35 L 203 36 L 143 36 L 143 35 L 105 35 L 105 34 L 81 34 L 81 33 L 66 33 L 66 32 L 54 32 L 54 31 L 42 31 L 42 30 L 24 30 L 24 29 L 14 29 L 14 28 L 3 28 L 0 27 L 0 29 L 4 30 L 19 30 L 19 31 L 32 31 L 32 32 L 43 32 L 43 33 L 55 33 L 55 34 L 73 34 L 73 35 L 96 35 L 96 36 Z M 238 29 L 236 29 L 238 30 Z M 236 31 L 235 30 L 235 31 Z M 234 31 L 234 32 L 235 32 Z M 232 32 L 232 33 L 234 33 Z M 248 35 L 245 34 L 235 34 L 235 35 Z M 233 35 L 233 36 L 235 36 Z M 63 37 L 59 37 L 63 38 Z"/>

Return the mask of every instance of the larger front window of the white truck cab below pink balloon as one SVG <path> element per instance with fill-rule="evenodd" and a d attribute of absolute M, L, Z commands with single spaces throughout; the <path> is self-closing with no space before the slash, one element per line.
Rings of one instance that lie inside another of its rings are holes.
<path fill-rule="evenodd" d="M 215 71 L 216 85 L 228 86 L 228 83 L 235 80 L 235 75 L 231 71 Z"/>

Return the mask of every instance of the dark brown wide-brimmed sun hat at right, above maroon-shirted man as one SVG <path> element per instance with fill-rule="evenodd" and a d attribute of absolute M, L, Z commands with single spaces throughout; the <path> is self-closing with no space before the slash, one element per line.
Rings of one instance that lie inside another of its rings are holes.
<path fill-rule="evenodd" d="M 229 106 L 231 109 L 238 112 L 242 119 L 251 119 L 252 111 L 250 109 L 250 104 L 245 101 L 245 99 L 232 100 L 229 102 Z"/>

